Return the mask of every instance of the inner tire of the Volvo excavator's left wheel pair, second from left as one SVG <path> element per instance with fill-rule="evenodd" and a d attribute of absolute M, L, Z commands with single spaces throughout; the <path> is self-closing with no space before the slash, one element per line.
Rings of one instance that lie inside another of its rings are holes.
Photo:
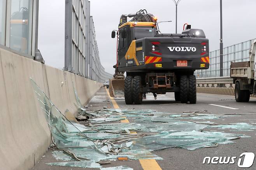
<path fill-rule="evenodd" d="M 142 104 L 142 84 L 141 77 L 134 76 L 133 78 L 133 101 L 135 104 Z"/>

